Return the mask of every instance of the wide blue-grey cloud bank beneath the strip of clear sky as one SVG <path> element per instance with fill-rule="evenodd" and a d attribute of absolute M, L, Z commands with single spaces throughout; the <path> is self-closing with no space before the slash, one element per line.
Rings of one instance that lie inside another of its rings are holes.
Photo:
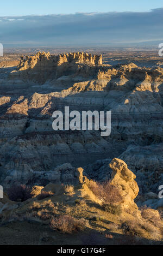
<path fill-rule="evenodd" d="M 0 17 L 0 21 L 0 42 L 4 46 L 115 44 L 163 39 L 163 8 L 141 13 Z"/>

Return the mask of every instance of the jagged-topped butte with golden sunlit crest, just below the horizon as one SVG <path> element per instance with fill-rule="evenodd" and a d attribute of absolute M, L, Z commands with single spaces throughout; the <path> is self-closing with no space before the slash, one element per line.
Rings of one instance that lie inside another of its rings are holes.
<path fill-rule="evenodd" d="M 49 52 L 37 52 L 33 56 L 21 57 L 17 66 L 17 73 L 14 72 L 14 76 L 43 84 L 47 79 L 60 78 L 62 75 L 76 73 L 80 64 L 90 67 L 102 65 L 102 55 L 77 52 L 55 56 Z"/>

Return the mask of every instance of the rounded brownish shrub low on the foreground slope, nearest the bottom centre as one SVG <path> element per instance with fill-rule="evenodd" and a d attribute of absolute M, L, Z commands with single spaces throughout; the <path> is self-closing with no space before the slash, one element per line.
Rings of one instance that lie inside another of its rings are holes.
<path fill-rule="evenodd" d="M 85 225 L 84 219 L 75 219 L 68 215 L 60 215 L 52 219 L 50 227 L 61 233 L 71 234 L 83 229 Z"/>

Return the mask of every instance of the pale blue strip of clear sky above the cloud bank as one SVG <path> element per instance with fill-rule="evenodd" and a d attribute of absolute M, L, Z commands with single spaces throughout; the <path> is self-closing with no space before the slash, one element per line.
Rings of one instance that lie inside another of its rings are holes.
<path fill-rule="evenodd" d="M 1 1 L 0 16 L 149 11 L 161 7 L 162 0 L 5 0 Z"/>

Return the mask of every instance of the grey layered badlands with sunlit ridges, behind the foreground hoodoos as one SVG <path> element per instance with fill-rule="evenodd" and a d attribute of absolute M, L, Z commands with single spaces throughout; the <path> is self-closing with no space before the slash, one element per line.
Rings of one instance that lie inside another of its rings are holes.
<path fill-rule="evenodd" d="M 102 56 L 38 52 L 0 69 L 0 183 L 42 185 L 110 177 L 113 158 L 124 160 L 140 193 L 163 183 L 163 69 L 134 63 L 110 66 Z M 54 131 L 54 110 L 111 110 L 111 135 Z M 58 167 L 58 166 L 62 167 Z M 58 171 L 61 168 L 61 171 Z"/>

